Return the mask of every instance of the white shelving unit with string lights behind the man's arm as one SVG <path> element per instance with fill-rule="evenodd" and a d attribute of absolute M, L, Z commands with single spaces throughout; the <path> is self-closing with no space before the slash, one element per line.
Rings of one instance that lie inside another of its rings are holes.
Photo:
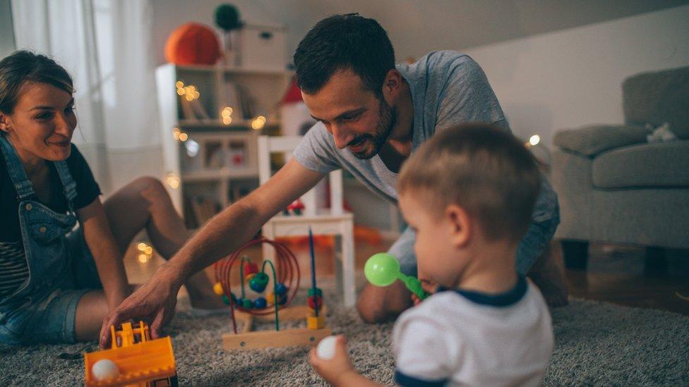
<path fill-rule="evenodd" d="M 277 133 L 277 106 L 287 90 L 292 73 L 222 66 L 175 66 L 156 69 L 157 100 L 163 148 L 163 182 L 174 207 L 184 215 L 187 227 L 198 219 L 189 204 L 203 201 L 215 211 L 258 187 L 258 135 Z M 193 85 L 199 92 L 196 103 L 208 118 L 185 116 L 176 82 Z M 244 91 L 246 109 L 232 106 L 237 85 Z M 232 122 L 222 121 L 222 109 L 233 109 Z M 256 130 L 252 123 L 265 118 Z M 198 145 L 198 147 L 196 146 Z"/>

